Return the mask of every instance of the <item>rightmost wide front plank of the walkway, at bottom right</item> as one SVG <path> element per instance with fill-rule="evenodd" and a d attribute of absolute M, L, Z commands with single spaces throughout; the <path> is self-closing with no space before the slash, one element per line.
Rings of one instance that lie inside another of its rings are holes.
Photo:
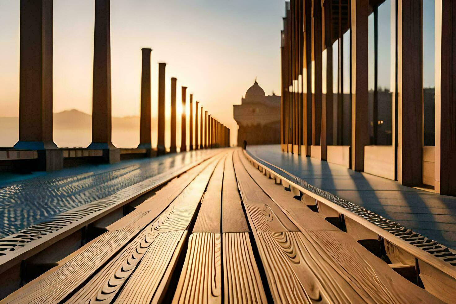
<path fill-rule="evenodd" d="M 371 303 L 440 303 L 342 231 L 311 231 L 300 237 L 309 252 L 319 252 L 314 255 L 321 269 L 317 273 L 330 274 L 326 283 L 337 282 L 332 291 L 344 293 L 349 302 L 358 302 L 359 297 Z"/>

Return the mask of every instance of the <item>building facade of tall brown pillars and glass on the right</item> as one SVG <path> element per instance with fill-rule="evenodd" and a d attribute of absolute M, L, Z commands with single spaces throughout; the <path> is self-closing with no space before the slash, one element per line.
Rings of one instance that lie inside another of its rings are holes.
<path fill-rule="evenodd" d="M 282 150 L 456 196 L 455 12 L 451 0 L 285 2 Z"/>

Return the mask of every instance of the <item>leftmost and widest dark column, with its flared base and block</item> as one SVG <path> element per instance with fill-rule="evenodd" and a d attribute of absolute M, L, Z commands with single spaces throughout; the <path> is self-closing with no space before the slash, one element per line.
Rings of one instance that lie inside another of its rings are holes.
<path fill-rule="evenodd" d="M 22 0 L 20 14 L 19 141 L 38 150 L 38 170 L 63 168 L 52 140 L 52 0 Z"/>

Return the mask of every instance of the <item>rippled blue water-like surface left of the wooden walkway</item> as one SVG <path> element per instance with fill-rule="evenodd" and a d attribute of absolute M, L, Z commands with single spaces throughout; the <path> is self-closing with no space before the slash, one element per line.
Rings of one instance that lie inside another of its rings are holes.
<path fill-rule="evenodd" d="M 118 164 L 87 165 L 25 177 L 0 175 L 0 238 L 104 198 L 157 174 L 188 165 L 210 150 Z M 22 180 L 20 180 L 22 178 Z M 12 181 L 16 180 L 16 181 Z"/>

